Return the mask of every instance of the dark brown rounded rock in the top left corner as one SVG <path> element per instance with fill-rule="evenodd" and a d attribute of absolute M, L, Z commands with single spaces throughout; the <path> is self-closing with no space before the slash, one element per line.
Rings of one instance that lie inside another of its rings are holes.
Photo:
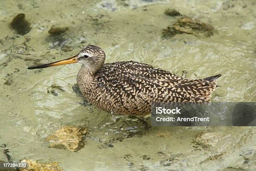
<path fill-rule="evenodd" d="M 16 15 L 10 26 L 20 35 L 25 35 L 31 30 L 30 23 L 25 19 L 25 14 Z"/>

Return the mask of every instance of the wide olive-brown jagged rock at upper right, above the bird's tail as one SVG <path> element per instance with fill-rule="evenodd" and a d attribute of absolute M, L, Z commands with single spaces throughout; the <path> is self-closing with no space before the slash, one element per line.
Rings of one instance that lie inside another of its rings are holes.
<path fill-rule="evenodd" d="M 197 36 L 204 35 L 210 37 L 213 35 L 214 28 L 210 24 L 202 23 L 200 20 L 192 19 L 187 16 L 179 18 L 173 26 L 163 29 L 163 37 L 172 37 L 175 34 L 194 34 Z"/>

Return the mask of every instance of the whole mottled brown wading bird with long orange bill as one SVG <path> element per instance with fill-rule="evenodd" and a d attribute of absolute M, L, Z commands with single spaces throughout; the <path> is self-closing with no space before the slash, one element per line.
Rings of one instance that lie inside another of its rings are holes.
<path fill-rule="evenodd" d="M 152 102 L 210 102 L 217 88 L 215 79 L 221 76 L 186 79 L 135 61 L 104 64 L 104 51 L 93 45 L 69 59 L 28 69 L 77 61 L 83 64 L 77 75 L 83 96 L 100 109 L 115 114 L 146 115 Z"/>

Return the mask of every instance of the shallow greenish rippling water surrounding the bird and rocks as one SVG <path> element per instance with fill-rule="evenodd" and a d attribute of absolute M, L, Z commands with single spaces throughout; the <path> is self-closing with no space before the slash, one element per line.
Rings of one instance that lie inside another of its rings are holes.
<path fill-rule="evenodd" d="M 179 18 L 166 8 L 210 23 L 214 36 L 161 38 Z M 24 36 L 9 26 L 18 13 L 31 23 Z M 255 18 L 254 0 L 0 1 L 0 160 L 9 149 L 13 161 L 56 161 L 65 171 L 256 170 L 256 128 L 151 127 L 88 105 L 73 91 L 79 64 L 26 69 L 90 43 L 104 49 L 106 62 L 140 61 L 187 78 L 223 74 L 212 101 L 255 102 Z M 53 25 L 69 30 L 53 37 Z M 84 148 L 49 148 L 45 138 L 64 126 L 89 128 Z"/>

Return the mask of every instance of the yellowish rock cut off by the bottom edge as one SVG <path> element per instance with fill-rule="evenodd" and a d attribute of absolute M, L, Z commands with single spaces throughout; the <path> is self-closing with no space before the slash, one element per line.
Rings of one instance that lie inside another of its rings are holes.
<path fill-rule="evenodd" d="M 54 163 L 38 163 L 33 160 L 23 160 L 21 162 L 28 163 L 27 168 L 20 168 L 21 171 L 62 171 L 57 162 Z"/>

